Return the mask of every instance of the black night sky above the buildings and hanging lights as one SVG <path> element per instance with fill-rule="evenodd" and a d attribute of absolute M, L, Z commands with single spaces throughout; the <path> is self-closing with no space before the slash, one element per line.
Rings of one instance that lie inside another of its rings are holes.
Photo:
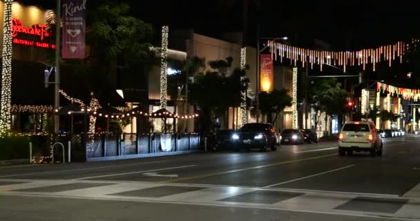
<path fill-rule="evenodd" d="M 98 2 L 87 1 L 89 5 Z M 312 39 L 321 39 L 334 50 L 354 50 L 420 38 L 420 10 L 414 6 L 416 1 L 260 0 L 260 13 L 258 1 L 248 1 L 249 45 L 255 45 L 258 15 L 262 37 L 287 36 L 297 46 L 309 46 Z M 53 0 L 23 2 L 55 7 Z M 194 28 L 211 37 L 242 30 L 243 0 L 124 2 L 132 6 L 135 17 L 155 27 L 168 24 L 171 29 Z"/>

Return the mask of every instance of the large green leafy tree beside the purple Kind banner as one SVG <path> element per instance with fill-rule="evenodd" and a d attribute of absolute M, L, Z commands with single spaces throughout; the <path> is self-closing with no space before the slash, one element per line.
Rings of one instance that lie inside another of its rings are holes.
<path fill-rule="evenodd" d="M 86 50 L 84 59 L 64 59 L 61 66 L 74 70 L 77 84 L 99 95 L 115 84 L 117 70 L 137 73 L 144 65 L 154 64 L 155 51 L 151 50 L 153 26 L 132 17 L 130 6 L 113 1 L 95 1 L 88 7 L 86 20 Z M 48 29 L 55 30 L 55 17 L 49 17 Z M 48 63 L 55 66 L 54 52 Z"/>

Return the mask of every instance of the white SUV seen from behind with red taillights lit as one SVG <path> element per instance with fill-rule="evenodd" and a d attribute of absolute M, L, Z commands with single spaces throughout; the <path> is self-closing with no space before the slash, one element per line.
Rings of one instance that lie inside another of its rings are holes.
<path fill-rule="evenodd" d="M 338 153 L 368 151 L 372 157 L 382 155 L 381 135 L 372 122 L 346 122 L 338 136 Z"/>

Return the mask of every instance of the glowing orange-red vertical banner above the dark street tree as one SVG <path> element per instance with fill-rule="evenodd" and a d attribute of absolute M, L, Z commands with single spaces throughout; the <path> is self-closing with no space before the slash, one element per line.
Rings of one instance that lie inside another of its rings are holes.
<path fill-rule="evenodd" d="M 271 55 L 260 55 L 260 91 L 271 92 L 274 86 L 274 66 Z"/>

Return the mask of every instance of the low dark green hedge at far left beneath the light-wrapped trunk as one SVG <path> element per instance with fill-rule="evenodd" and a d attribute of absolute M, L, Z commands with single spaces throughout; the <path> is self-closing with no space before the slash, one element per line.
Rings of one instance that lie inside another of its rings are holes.
<path fill-rule="evenodd" d="M 0 137 L 0 160 L 28 158 L 29 141 L 27 137 Z"/>

